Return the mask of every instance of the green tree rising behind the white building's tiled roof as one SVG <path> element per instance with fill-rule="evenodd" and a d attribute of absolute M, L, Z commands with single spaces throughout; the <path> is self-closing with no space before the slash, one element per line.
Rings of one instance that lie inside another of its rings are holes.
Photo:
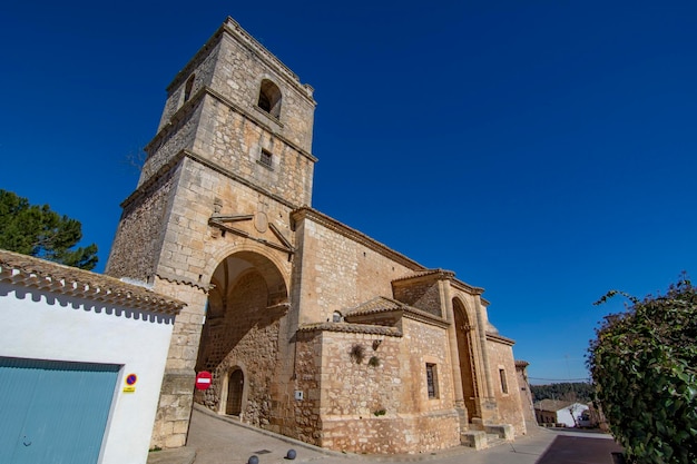
<path fill-rule="evenodd" d="M 0 248 L 89 270 L 97 245 L 75 248 L 81 239 L 80 221 L 0 189 Z"/>

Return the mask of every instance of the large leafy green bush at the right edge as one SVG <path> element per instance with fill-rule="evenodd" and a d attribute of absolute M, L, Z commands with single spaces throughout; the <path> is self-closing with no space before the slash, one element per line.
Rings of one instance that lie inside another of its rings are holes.
<path fill-rule="evenodd" d="M 697 463 L 696 288 L 683 276 L 665 296 L 627 297 L 590 343 L 597 399 L 630 462 Z"/>

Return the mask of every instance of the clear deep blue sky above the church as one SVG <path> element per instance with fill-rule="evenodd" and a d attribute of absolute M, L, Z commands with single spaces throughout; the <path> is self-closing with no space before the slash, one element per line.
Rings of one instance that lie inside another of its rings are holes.
<path fill-rule="evenodd" d="M 608 289 L 697 273 L 697 2 L 4 1 L 0 188 L 81 220 L 97 270 L 227 16 L 315 88 L 313 206 L 484 287 L 536 383 L 588 376 Z"/>

